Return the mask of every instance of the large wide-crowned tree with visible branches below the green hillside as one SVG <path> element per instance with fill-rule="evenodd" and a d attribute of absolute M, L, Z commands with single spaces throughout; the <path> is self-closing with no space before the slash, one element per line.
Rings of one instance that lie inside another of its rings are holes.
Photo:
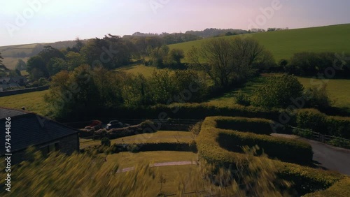
<path fill-rule="evenodd" d="M 226 87 L 254 75 L 260 64 L 271 61 L 270 55 L 253 38 L 216 38 L 201 48 L 193 47 L 187 58 L 207 73 L 215 85 Z"/>

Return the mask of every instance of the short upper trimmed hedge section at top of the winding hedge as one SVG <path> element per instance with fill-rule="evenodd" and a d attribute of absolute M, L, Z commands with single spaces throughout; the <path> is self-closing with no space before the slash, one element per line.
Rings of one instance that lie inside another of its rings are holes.
<path fill-rule="evenodd" d="M 218 129 L 232 129 L 269 135 L 272 133 L 271 124 L 274 124 L 274 122 L 262 118 L 221 117 L 216 120 L 216 124 Z"/>

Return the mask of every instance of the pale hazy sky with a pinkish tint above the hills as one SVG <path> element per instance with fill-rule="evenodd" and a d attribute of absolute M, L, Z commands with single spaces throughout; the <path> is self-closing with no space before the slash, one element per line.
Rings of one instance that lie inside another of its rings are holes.
<path fill-rule="evenodd" d="M 0 0 L 0 46 L 188 30 L 350 23 L 349 0 Z"/>

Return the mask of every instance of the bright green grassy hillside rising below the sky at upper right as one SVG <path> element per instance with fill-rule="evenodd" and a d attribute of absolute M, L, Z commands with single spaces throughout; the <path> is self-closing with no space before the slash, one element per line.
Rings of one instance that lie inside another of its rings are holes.
<path fill-rule="evenodd" d="M 349 32 L 350 24 L 339 24 L 237 36 L 256 38 L 274 54 L 278 61 L 279 59 L 292 57 L 295 52 L 350 52 Z M 225 36 L 223 38 L 235 38 L 237 36 Z M 169 45 L 169 48 L 180 48 L 187 52 L 193 45 L 199 47 L 204 41 L 207 41 L 207 39 Z"/>

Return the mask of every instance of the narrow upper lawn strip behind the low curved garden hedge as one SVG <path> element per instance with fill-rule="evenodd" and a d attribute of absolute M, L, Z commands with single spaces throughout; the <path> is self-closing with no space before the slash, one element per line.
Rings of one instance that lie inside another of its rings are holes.
<path fill-rule="evenodd" d="M 143 133 L 135 136 L 127 136 L 124 138 L 114 139 L 114 140 L 111 140 L 111 144 L 159 143 L 159 142 L 176 143 L 178 140 L 179 142 L 190 143 L 193 140 L 193 138 L 191 136 L 191 133 L 186 131 L 157 131 L 155 133 Z M 91 145 L 100 145 L 100 144 L 101 144 L 101 140 L 80 139 L 80 149 L 89 147 Z"/>

